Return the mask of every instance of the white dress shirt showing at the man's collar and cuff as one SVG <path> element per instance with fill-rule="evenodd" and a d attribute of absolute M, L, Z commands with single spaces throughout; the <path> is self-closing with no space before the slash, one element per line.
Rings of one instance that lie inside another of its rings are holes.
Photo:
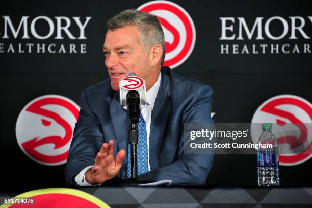
<path fill-rule="evenodd" d="M 141 107 L 141 113 L 146 124 L 147 149 L 148 150 L 149 150 L 149 132 L 150 132 L 151 113 L 152 113 L 152 109 L 154 108 L 154 104 L 155 104 L 156 96 L 160 87 L 160 83 L 161 83 L 161 74 L 159 74 L 157 82 L 146 92 L 147 105 L 144 105 Z M 149 151 L 147 151 L 147 158 L 148 158 L 148 171 L 150 171 Z M 92 166 L 88 166 L 84 168 L 82 171 L 80 171 L 79 174 L 76 175 L 75 181 L 78 186 L 91 186 L 91 184 L 89 184 L 85 179 L 85 174 L 90 168 L 92 168 Z"/>

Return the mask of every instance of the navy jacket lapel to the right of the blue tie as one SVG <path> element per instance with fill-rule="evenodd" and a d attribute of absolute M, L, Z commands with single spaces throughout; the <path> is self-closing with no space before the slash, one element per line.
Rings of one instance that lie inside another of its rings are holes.
<path fill-rule="evenodd" d="M 171 83 L 168 75 L 170 74 L 170 68 L 164 68 L 161 73 L 161 85 L 152 110 L 149 133 L 149 163 L 151 170 L 160 166 L 159 153 L 167 126 L 167 118 L 171 110 Z"/>

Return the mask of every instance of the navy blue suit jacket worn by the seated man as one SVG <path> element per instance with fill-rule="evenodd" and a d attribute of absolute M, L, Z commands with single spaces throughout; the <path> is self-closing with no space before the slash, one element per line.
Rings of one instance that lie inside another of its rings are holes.
<path fill-rule="evenodd" d="M 149 161 L 145 180 L 172 180 L 172 184 L 205 184 L 213 154 L 184 154 L 184 123 L 213 123 L 212 89 L 162 67 L 161 84 L 151 115 Z M 82 92 L 80 113 L 74 128 L 65 179 L 69 186 L 94 159 L 104 142 L 114 140 L 114 155 L 127 151 L 129 118 L 120 106 L 119 92 L 106 79 Z M 117 179 L 127 177 L 127 159 Z"/>

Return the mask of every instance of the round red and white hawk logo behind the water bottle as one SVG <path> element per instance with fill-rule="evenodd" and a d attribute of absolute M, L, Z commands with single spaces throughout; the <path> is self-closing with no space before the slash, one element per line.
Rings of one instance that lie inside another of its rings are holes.
<path fill-rule="evenodd" d="M 312 132 L 306 125 L 312 123 L 312 104 L 309 101 L 294 95 L 275 96 L 258 107 L 251 123 L 276 123 L 281 129 L 285 124 L 293 124 L 294 128 L 299 129 L 285 130 L 281 135 L 275 135 L 279 148 L 288 148 L 289 152 L 296 148 L 301 150 L 297 154 L 280 154 L 280 165 L 299 165 L 312 157 Z M 261 129 L 251 128 L 253 143 L 257 143 L 260 134 Z"/>

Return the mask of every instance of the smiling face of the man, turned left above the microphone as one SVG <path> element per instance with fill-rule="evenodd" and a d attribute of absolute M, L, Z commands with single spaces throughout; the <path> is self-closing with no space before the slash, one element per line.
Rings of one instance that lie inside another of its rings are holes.
<path fill-rule="evenodd" d="M 148 84 L 150 73 L 148 50 L 140 43 L 140 38 L 137 26 L 108 30 L 106 34 L 103 53 L 111 85 L 115 91 L 119 90 L 119 82 L 130 72 L 136 73 Z"/>

